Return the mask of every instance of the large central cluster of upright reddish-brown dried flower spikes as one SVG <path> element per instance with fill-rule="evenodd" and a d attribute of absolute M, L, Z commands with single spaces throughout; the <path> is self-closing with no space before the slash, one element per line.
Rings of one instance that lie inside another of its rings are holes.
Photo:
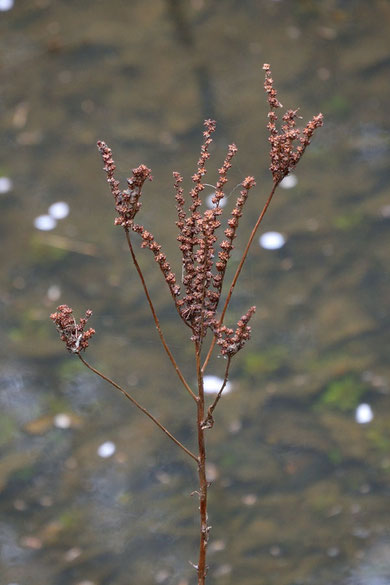
<path fill-rule="evenodd" d="M 233 249 L 233 240 L 236 237 L 242 208 L 247 200 L 249 190 L 256 184 L 253 177 L 247 177 L 243 181 L 243 190 L 237 199 L 231 218 L 228 220 L 228 227 L 224 232 L 226 240 L 219 244 L 219 251 L 216 255 L 216 231 L 221 226 L 218 218 L 222 214 L 220 202 L 225 197 L 224 186 L 228 181 L 227 172 L 232 166 L 231 161 L 237 153 L 237 147 L 235 144 L 229 145 L 222 167 L 218 169 L 218 181 L 212 197 L 213 207 L 201 213 L 199 210 L 202 205 L 200 194 L 204 190 L 202 177 L 207 172 L 206 161 L 210 157 L 208 148 L 212 142 L 211 135 L 216 127 L 214 120 L 206 120 L 204 125 L 204 141 L 201 146 L 197 170 L 192 176 L 195 186 L 190 191 L 192 204 L 188 213 L 184 208 L 185 199 L 181 187 L 183 179 L 179 173 L 174 173 L 178 213 L 176 225 L 179 228 L 177 239 L 182 252 L 183 285 L 185 287 L 185 294 L 177 300 L 177 305 L 182 319 L 192 329 L 192 339 L 196 342 L 201 342 L 208 328 L 211 328 L 214 334 L 217 334 L 219 330 L 216 310 L 221 297 L 226 266 Z M 217 260 L 215 260 L 216 257 Z"/>

